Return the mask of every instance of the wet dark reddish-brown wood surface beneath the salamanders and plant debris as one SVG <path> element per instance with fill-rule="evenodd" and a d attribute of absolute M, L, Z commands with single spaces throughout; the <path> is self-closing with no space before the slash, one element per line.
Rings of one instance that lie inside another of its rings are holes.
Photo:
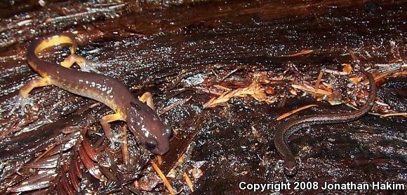
<path fill-rule="evenodd" d="M 300 131 L 290 143 L 300 157 L 300 170 L 294 178 L 287 178 L 272 144 L 275 127 L 281 123 L 276 117 L 310 103 L 319 107 L 293 117 L 340 113 L 351 108 L 316 102 L 310 94 L 287 96 L 271 104 L 251 97 L 234 98 L 221 106 L 204 108 L 204 103 L 215 95 L 196 89 L 208 86 L 203 83 L 246 87 L 253 73 L 290 74 L 295 72 L 293 67 L 302 73 L 299 79 L 307 80 L 316 78 L 321 68 L 338 69 L 341 64 L 405 64 L 404 1 L 171 1 L 168 5 L 47 1 L 45 6 L 36 1 L 13 2 L 3 3 L 9 9 L 0 8 L 0 128 L 4 135 L 0 159 L 4 167 L 23 169 L 23 164 L 31 163 L 60 140 L 62 129 L 68 127 L 88 129 L 84 135 L 94 147 L 107 145 L 107 141 L 100 141 L 102 129 L 98 121 L 112 111 L 58 87 L 34 89 L 30 96 L 39 108 L 31 110 L 32 114 L 22 119 L 17 115 L 6 117 L 18 89 L 27 80 L 39 77 L 25 60 L 29 41 L 68 31 L 79 42 L 79 55 L 97 64 L 102 74 L 119 78 L 135 96 L 152 92 L 159 111 L 190 98 L 161 115 L 164 122 L 171 124 L 175 136 L 160 168 L 164 173 L 175 169 L 175 178 L 170 181 L 177 191 L 192 193 L 182 173 L 198 165 L 203 175 L 192 178 L 196 194 L 250 193 L 239 191 L 240 181 L 310 180 L 322 184 L 385 182 L 391 178 L 406 183 L 406 117 L 366 115 L 347 124 L 316 125 Z M 302 50 L 313 52 L 293 55 Z M 66 54 L 65 48 L 44 55 L 50 62 L 62 62 Z M 402 105 L 406 102 L 406 77 L 389 79 L 387 83 L 395 84 L 382 85 L 383 99 L 389 99 L 394 110 L 406 112 Z M 274 96 L 288 94 L 287 82 L 270 85 L 276 89 Z M 399 98 L 392 100 L 386 96 L 389 93 Z M 115 131 L 121 131 L 123 126 L 121 122 L 112 124 Z M 155 157 L 138 147 L 131 136 L 128 133 L 129 147 L 135 151 L 131 151 L 133 160 L 127 166 L 121 167 L 124 162 L 119 147 L 104 147 L 98 154 L 115 154 L 120 171 L 128 178 L 135 177 L 134 173 L 138 177 L 148 175 L 152 173 L 147 169 L 148 161 Z M 180 158 L 182 164 L 178 163 Z M 2 193 L 23 180 L 11 181 L 6 176 L 13 176 L 13 172 L 4 169 L 1 173 Z M 122 184 L 127 185 L 122 181 L 116 191 L 132 190 Z M 109 187 L 103 185 L 99 189 L 109 192 Z M 162 184 L 156 189 L 166 193 Z M 135 193 L 134 189 L 131 192 Z M 318 192 L 325 193 L 321 189 Z"/>

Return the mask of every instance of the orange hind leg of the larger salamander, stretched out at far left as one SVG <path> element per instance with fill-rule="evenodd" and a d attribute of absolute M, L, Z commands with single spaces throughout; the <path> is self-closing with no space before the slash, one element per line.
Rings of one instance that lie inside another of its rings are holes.
<path fill-rule="evenodd" d="M 47 85 L 51 85 L 49 78 L 36 78 L 33 80 L 29 80 L 25 85 L 20 88 L 20 92 L 18 92 L 17 99 L 15 100 L 13 108 L 11 108 L 10 113 L 8 116 L 14 113 L 14 110 L 21 107 L 21 115 L 24 115 L 24 108 L 27 104 L 32 106 L 32 100 L 29 99 L 29 92 L 32 91 L 35 87 L 44 87 Z"/>

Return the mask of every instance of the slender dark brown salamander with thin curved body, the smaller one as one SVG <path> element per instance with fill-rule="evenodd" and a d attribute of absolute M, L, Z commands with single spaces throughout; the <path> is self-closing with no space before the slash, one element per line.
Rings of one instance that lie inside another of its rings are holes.
<path fill-rule="evenodd" d="M 288 120 L 286 123 L 277 128 L 276 133 L 274 134 L 274 145 L 276 146 L 277 152 L 284 160 L 284 173 L 286 175 L 295 175 L 297 173 L 297 164 L 295 157 L 288 147 L 288 138 L 290 138 L 293 133 L 299 131 L 304 127 L 309 127 L 313 124 L 333 124 L 333 123 L 342 123 L 350 122 L 359 119 L 359 117 L 368 113 L 372 109 L 373 103 L 376 99 L 376 88 L 375 80 L 371 73 L 361 70 L 362 73 L 367 75 L 369 80 L 370 94 L 366 104 L 352 113 L 335 113 L 335 114 L 322 114 L 322 115 L 309 115 L 300 118 L 294 118 Z"/>

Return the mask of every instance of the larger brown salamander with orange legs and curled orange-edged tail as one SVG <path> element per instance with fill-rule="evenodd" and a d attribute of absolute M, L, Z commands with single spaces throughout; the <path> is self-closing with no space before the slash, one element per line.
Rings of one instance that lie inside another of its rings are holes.
<path fill-rule="evenodd" d="M 71 55 L 61 62 L 60 66 L 38 57 L 42 50 L 62 44 L 72 46 Z M 144 94 L 140 101 L 135 99 L 116 78 L 88 72 L 95 69 L 84 57 L 74 55 L 76 48 L 77 44 L 72 34 L 51 34 L 32 41 L 27 49 L 27 62 L 41 75 L 41 78 L 29 80 L 20 88 L 17 102 L 11 113 L 15 108 L 21 107 L 21 113 L 24 115 L 24 108 L 30 103 L 28 94 L 35 87 L 55 85 L 79 96 L 100 101 L 114 111 L 113 114 L 105 115 L 100 120 L 105 136 L 112 144 L 122 140 L 119 138 L 121 133 L 112 132 L 109 122 L 121 120 L 126 122 L 128 129 L 148 150 L 159 155 L 168 152 L 169 139 L 172 136 L 171 128 L 161 122 L 156 112 L 142 102 L 149 103 L 148 100 L 152 99 L 151 94 Z M 78 64 L 82 71 L 70 68 L 74 63 Z"/>

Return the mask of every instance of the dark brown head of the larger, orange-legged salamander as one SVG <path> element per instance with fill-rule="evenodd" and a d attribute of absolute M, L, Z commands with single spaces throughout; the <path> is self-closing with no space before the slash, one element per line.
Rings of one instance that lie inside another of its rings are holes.
<path fill-rule="evenodd" d="M 135 134 L 147 150 L 154 154 L 165 154 L 170 150 L 173 131 L 161 122 L 156 112 L 145 103 L 131 102 L 127 108 L 127 127 Z"/>

